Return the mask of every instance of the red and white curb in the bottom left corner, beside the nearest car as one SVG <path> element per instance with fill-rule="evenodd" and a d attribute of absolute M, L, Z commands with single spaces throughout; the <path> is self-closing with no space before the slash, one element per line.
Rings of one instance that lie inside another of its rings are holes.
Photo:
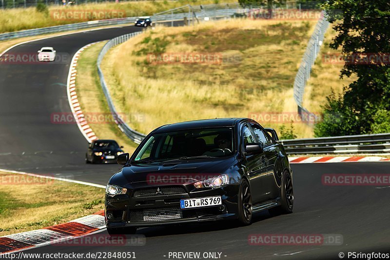
<path fill-rule="evenodd" d="M 38 230 L 0 237 L 0 254 L 15 253 L 62 240 L 98 233 L 106 228 L 104 211 Z"/>

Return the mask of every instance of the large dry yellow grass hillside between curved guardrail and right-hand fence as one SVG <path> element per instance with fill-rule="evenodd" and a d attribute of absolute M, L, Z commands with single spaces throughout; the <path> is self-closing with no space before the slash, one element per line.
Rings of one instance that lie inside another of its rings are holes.
<path fill-rule="evenodd" d="M 183 120 L 294 113 L 293 80 L 315 23 L 223 20 L 158 27 L 113 48 L 103 72 L 117 109 L 143 115 L 142 121 L 129 122 L 143 133 Z M 239 60 L 148 64 L 146 53 L 165 43 L 166 53 L 217 52 Z M 265 125 L 278 130 L 282 124 Z M 312 128 L 304 124 L 294 124 L 294 130 L 300 138 L 312 137 Z"/>

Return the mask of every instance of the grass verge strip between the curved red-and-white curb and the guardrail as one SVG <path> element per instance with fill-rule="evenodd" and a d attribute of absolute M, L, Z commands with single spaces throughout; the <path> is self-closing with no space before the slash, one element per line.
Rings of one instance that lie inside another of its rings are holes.
<path fill-rule="evenodd" d="M 77 62 L 76 92 L 84 115 L 109 115 L 110 110 L 98 77 L 96 60 L 105 42 L 100 42 L 81 52 Z M 112 120 L 89 122 L 99 139 L 114 139 L 123 150 L 133 153 L 137 144 L 124 135 Z"/>

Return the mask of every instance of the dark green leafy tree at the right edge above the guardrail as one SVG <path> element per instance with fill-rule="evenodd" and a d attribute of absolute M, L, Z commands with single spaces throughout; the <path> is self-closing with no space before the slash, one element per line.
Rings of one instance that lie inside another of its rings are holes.
<path fill-rule="evenodd" d="M 329 0 L 322 6 L 337 32 L 330 46 L 335 50 L 342 47 L 346 58 L 340 77 L 357 76 L 346 89 L 343 100 L 339 100 L 342 103 L 338 111 L 332 108 L 334 100 L 328 99 L 324 118 L 327 113 L 342 113 L 343 118 L 353 119 L 349 120 L 351 125 L 346 126 L 344 120 L 329 122 L 334 129 L 341 132 L 348 129 L 350 135 L 371 133 L 375 119 L 382 118 L 375 117 L 377 112 L 390 110 L 390 2 Z M 324 127 L 324 123 L 318 127 Z M 334 134 L 331 130 L 319 132 L 323 136 Z"/>

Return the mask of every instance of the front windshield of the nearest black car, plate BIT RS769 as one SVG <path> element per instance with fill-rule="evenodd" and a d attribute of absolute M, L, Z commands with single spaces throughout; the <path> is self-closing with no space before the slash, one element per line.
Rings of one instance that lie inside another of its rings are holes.
<path fill-rule="evenodd" d="M 133 161 L 157 162 L 224 157 L 233 154 L 232 128 L 202 128 L 155 134 Z"/>

